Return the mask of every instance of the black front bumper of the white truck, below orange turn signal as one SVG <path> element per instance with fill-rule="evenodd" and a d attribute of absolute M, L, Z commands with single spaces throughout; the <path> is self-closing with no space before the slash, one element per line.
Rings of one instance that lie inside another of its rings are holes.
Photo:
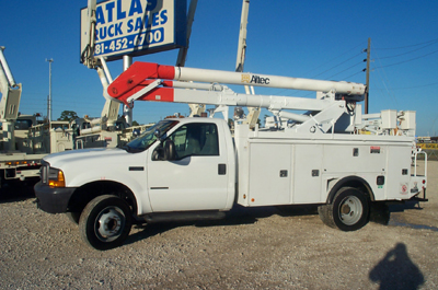
<path fill-rule="evenodd" d="M 77 187 L 53 188 L 38 182 L 34 186 L 37 207 L 49 213 L 67 212 L 70 197 Z"/>

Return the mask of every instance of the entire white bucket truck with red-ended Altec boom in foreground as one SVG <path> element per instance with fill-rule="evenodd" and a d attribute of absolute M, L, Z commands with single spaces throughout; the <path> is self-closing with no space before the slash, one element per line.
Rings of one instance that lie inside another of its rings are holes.
<path fill-rule="evenodd" d="M 218 83 L 318 93 L 247 95 Z M 371 205 L 426 200 L 426 174 L 411 167 L 415 112 L 362 115 L 365 91 L 359 83 L 135 62 L 107 88 L 114 100 L 216 105 L 224 119 L 165 119 L 124 148 L 48 155 L 37 204 L 67 212 L 99 250 L 120 245 L 134 221 L 220 218 L 237 204 L 314 204 L 324 223 L 358 230 Z M 232 136 L 228 106 L 267 108 L 283 121 L 251 129 L 235 116 Z"/>

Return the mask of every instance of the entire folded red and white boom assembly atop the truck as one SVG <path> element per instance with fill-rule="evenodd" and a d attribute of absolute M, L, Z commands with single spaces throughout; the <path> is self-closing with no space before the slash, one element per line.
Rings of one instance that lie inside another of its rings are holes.
<path fill-rule="evenodd" d="M 204 83 L 193 83 L 197 81 Z M 206 83 L 207 82 L 207 83 Z M 319 98 L 273 95 L 238 94 L 224 85 L 253 84 L 257 86 L 325 92 Z M 196 89 L 196 90 L 183 90 Z M 203 91 L 204 90 L 204 91 Z M 207 91 L 207 92 L 206 92 Z M 360 83 L 319 81 L 267 74 L 228 72 L 135 62 L 108 86 L 108 95 L 132 106 L 134 101 L 197 103 L 223 106 L 267 108 L 279 117 L 293 120 L 297 131 L 328 132 L 343 116 L 343 131 L 351 131 L 356 101 L 364 100 L 365 85 Z M 298 115 L 284 109 L 309 111 Z"/>

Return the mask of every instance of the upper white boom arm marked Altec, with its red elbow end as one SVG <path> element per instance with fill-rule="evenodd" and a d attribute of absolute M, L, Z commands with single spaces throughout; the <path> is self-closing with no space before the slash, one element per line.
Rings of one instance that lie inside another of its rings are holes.
<path fill-rule="evenodd" d="M 151 80 L 155 80 L 154 84 L 151 83 Z M 267 74 L 161 66 L 150 62 L 135 62 L 128 70 L 123 72 L 112 84 L 110 84 L 108 94 L 112 97 L 115 97 L 124 102 L 125 104 L 130 105 L 134 100 L 148 100 L 151 94 L 150 91 L 152 89 L 159 89 L 158 85 L 160 85 L 161 83 L 166 86 L 173 86 L 169 81 L 165 82 L 163 80 L 195 81 L 207 83 L 217 82 L 240 85 L 251 84 L 278 89 L 335 92 L 336 94 L 345 94 L 351 97 L 359 96 L 359 98 L 361 98 L 365 93 L 365 85 L 360 83 L 320 81 Z M 159 84 L 157 84 L 157 81 L 159 82 Z M 152 88 L 151 85 L 154 86 Z M 160 92 L 164 93 L 165 91 Z M 164 95 L 169 97 L 169 93 L 171 92 L 164 93 Z M 143 97 L 141 96 L 142 94 L 145 94 Z M 168 102 L 173 101 L 169 100 Z M 290 108 L 293 109 L 293 107 Z"/>

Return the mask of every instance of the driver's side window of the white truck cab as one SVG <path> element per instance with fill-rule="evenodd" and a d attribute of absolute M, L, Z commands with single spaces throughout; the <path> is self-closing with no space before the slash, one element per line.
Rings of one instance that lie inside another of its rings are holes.
<path fill-rule="evenodd" d="M 191 155 L 219 155 L 218 128 L 215 124 L 187 124 L 173 132 L 169 139 L 175 144 L 178 160 Z"/>

